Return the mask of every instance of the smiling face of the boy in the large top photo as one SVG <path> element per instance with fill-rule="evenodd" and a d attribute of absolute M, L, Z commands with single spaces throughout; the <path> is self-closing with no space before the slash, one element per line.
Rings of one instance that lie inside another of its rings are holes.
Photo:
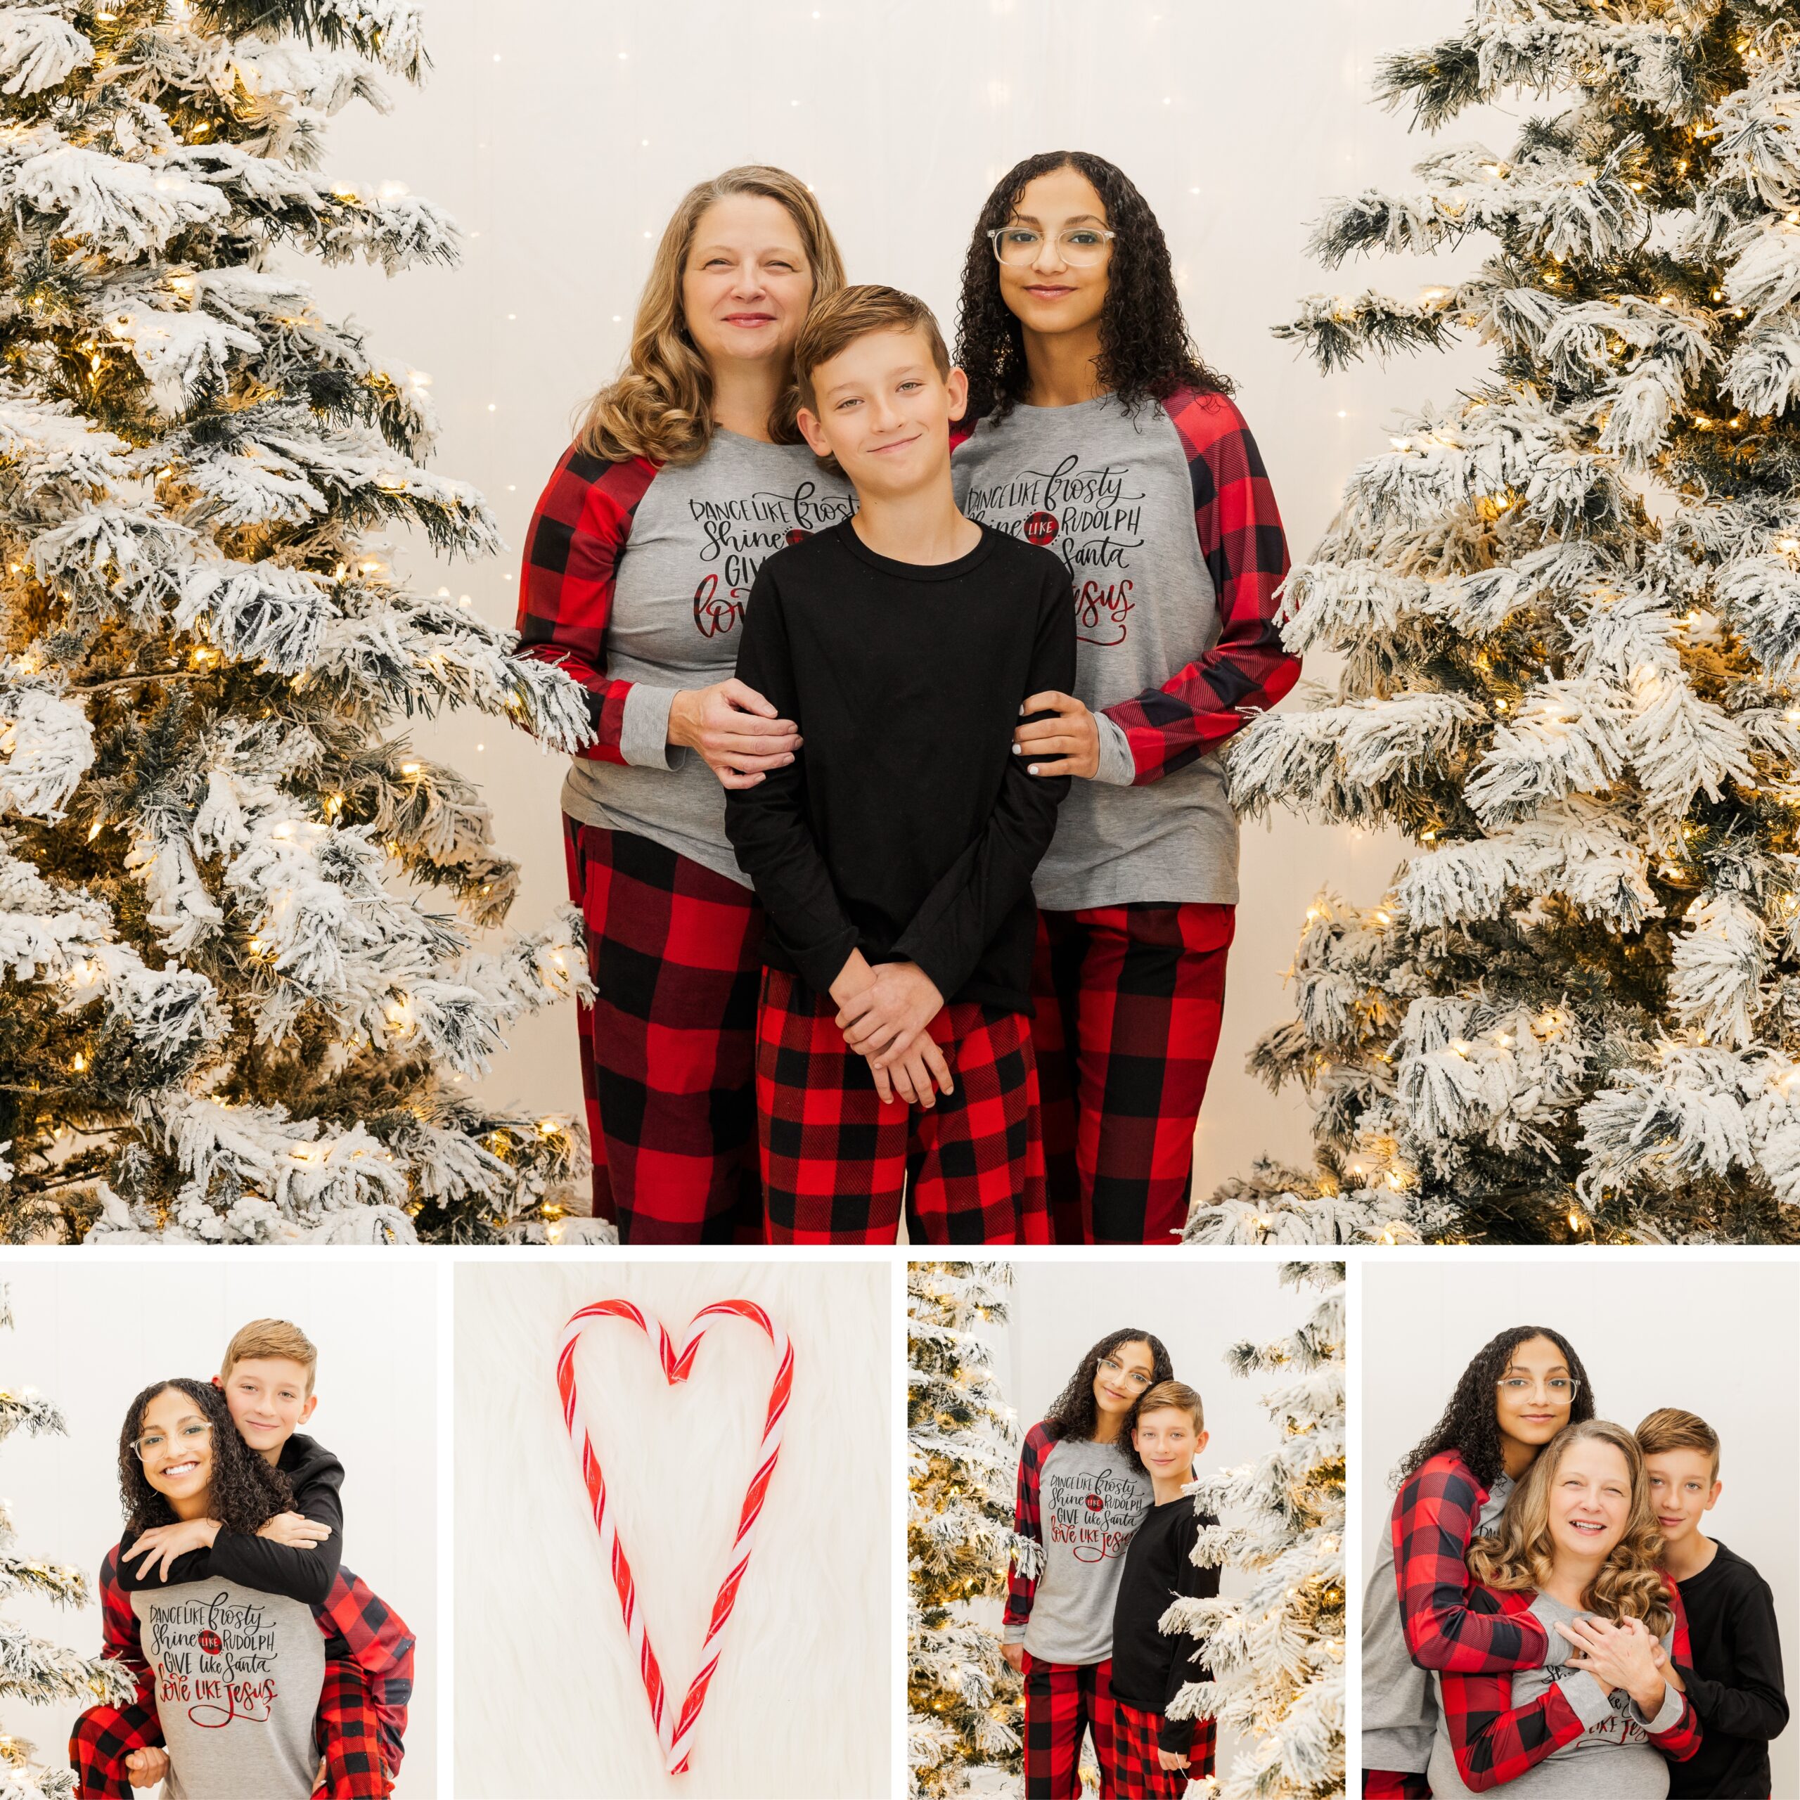
<path fill-rule="evenodd" d="M 898 499 L 950 463 L 950 421 L 968 405 L 961 369 L 940 374 L 923 331 L 869 331 L 812 371 L 799 428 L 835 455 L 859 493 Z"/>

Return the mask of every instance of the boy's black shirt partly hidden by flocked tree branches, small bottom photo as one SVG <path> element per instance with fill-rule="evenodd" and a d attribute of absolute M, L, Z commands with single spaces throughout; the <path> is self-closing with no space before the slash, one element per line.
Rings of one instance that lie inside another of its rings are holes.
<path fill-rule="evenodd" d="M 1193 1544 L 1211 1514 L 1193 1510 L 1193 1501 L 1165 1499 L 1152 1507 L 1132 1534 L 1112 1606 L 1112 1697 L 1161 1717 L 1156 1741 L 1170 1755 L 1193 1748 L 1193 1721 L 1170 1719 L 1168 1703 L 1190 1683 L 1210 1681 L 1197 1663 L 1199 1640 L 1186 1633 L 1165 1636 L 1156 1622 L 1172 1600 L 1211 1600 L 1219 1593 L 1219 1570 L 1193 1562 Z"/>

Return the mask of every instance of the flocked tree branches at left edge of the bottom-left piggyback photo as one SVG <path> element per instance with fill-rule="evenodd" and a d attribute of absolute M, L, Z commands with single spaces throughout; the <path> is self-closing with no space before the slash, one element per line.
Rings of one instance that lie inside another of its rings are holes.
<path fill-rule="evenodd" d="M 0 1328 L 11 1325 L 7 1291 L 0 1285 Z M 63 1415 L 31 1388 L 0 1388 L 0 1444 L 14 1431 L 38 1436 L 65 1429 Z M 86 1606 L 92 1598 L 81 1570 L 20 1553 L 13 1521 L 5 1503 L 0 1503 L 0 1606 L 14 1595 L 38 1595 L 67 1607 Z M 76 1656 L 59 1643 L 9 1624 L 0 1613 L 0 1703 L 7 1714 L 18 1701 L 27 1706 L 56 1706 L 63 1701 L 83 1706 L 108 1701 L 122 1706 L 135 1694 L 137 1683 L 119 1663 Z M 52 1760 L 56 1766 L 45 1768 L 31 1742 L 0 1732 L 0 1800 L 72 1800 L 76 1777 L 61 1766 L 61 1755 Z"/>

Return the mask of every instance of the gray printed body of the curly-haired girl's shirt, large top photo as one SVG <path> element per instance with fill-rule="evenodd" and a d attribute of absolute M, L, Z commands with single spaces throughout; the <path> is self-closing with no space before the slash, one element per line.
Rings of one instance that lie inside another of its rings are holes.
<path fill-rule="evenodd" d="M 1033 891 L 1049 911 L 1129 902 L 1237 902 L 1238 824 L 1217 754 L 1132 787 L 1123 729 L 1102 707 L 1161 688 L 1220 637 L 1195 529 L 1195 473 L 1168 412 L 1111 394 L 1015 405 L 950 463 L 985 526 L 1053 549 L 1075 583 L 1075 693 L 1100 725 L 1100 772 L 1075 781 Z"/>

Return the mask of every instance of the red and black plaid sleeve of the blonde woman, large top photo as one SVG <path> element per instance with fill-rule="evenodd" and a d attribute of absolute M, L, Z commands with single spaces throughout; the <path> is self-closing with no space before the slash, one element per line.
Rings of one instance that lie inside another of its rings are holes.
<path fill-rule="evenodd" d="M 560 662 L 587 689 L 594 742 L 583 756 L 623 763 L 628 680 L 607 675 L 607 621 L 632 518 L 655 481 L 648 457 L 603 463 L 571 446 L 531 515 L 518 581 L 518 650 Z"/>

